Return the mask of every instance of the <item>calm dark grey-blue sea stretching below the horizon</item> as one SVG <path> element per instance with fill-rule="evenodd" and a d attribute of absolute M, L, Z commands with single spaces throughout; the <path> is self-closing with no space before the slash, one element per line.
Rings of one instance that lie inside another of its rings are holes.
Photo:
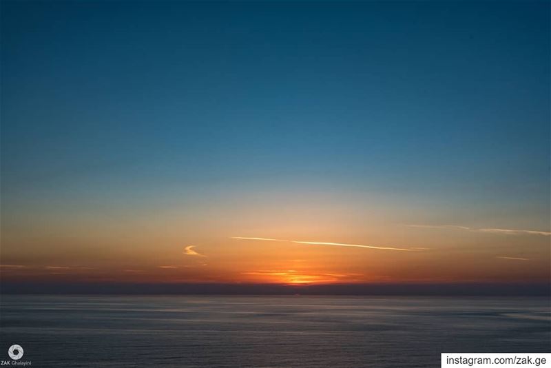
<path fill-rule="evenodd" d="M 551 351 L 548 298 L 2 296 L 32 367 L 439 367 Z"/>

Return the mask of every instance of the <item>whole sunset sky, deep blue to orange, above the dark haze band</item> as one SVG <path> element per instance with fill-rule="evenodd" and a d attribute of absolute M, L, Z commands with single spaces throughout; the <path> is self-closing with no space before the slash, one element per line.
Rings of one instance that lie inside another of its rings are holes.
<path fill-rule="evenodd" d="M 4 281 L 549 282 L 547 1 L 3 1 Z"/>

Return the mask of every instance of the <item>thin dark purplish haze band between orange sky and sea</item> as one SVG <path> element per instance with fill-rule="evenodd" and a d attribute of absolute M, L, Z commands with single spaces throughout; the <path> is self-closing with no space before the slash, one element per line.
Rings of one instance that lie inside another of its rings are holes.
<path fill-rule="evenodd" d="M 0 295 L 326 295 L 551 296 L 551 280 L 532 282 L 267 284 L 267 283 L 30 283 L 0 284 Z"/>

